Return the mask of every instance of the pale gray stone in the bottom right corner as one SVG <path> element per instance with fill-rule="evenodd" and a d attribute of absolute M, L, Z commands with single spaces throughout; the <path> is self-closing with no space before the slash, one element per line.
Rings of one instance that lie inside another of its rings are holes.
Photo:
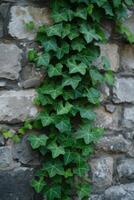
<path fill-rule="evenodd" d="M 134 200 L 134 183 L 108 188 L 105 191 L 105 200 Z"/>

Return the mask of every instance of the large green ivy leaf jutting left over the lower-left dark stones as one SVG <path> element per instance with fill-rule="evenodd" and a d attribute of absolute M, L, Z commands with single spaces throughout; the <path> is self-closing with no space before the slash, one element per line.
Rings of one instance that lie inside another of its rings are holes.
<path fill-rule="evenodd" d="M 46 135 L 30 135 L 28 138 L 33 149 L 38 149 L 40 146 L 46 146 L 48 137 Z"/>

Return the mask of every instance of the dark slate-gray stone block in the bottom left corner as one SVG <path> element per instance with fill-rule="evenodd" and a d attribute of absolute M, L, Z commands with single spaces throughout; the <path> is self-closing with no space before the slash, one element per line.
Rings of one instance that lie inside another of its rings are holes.
<path fill-rule="evenodd" d="M 32 200 L 34 198 L 30 185 L 32 177 L 33 170 L 26 167 L 0 172 L 0 199 Z"/>

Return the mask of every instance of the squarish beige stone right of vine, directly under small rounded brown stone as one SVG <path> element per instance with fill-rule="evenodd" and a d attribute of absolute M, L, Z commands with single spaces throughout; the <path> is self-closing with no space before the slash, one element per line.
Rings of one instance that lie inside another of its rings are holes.
<path fill-rule="evenodd" d="M 109 113 L 104 107 L 95 109 L 95 125 L 103 128 L 118 129 L 120 108 L 116 108 L 114 113 Z"/>

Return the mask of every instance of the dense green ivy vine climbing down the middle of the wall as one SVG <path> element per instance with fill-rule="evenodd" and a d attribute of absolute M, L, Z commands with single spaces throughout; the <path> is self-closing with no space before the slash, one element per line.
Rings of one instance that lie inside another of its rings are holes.
<path fill-rule="evenodd" d="M 112 85 L 114 80 L 106 57 L 101 57 L 102 69 L 95 64 L 99 43 L 107 41 L 102 22 L 113 22 L 134 42 L 122 23 L 132 4 L 132 0 L 51 0 L 53 24 L 38 29 L 40 48 L 31 49 L 28 57 L 46 76 L 35 99 L 40 111 L 32 126 L 39 134 L 31 134 L 29 141 L 42 155 L 32 186 L 48 200 L 89 197 L 88 160 L 103 134 L 94 126 L 94 108 L 100 104 L 100 84 Z"/>

